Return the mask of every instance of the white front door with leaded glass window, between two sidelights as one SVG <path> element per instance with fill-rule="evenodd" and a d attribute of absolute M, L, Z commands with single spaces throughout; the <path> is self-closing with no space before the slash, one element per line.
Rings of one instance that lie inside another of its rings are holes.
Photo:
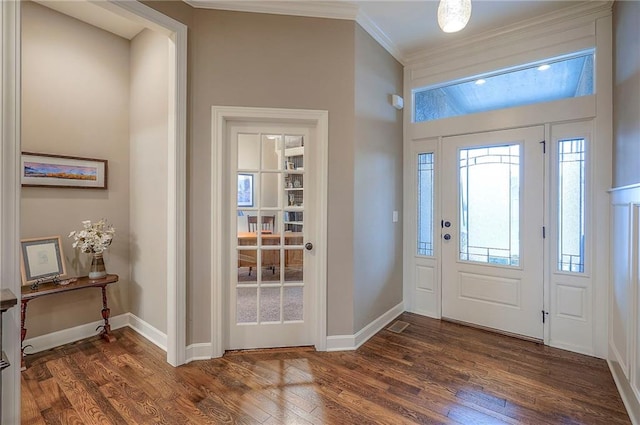
<path fill-rule="evenodd" d="M 442 317 L 543 338 L 544 127 L 442 140 Z"/>

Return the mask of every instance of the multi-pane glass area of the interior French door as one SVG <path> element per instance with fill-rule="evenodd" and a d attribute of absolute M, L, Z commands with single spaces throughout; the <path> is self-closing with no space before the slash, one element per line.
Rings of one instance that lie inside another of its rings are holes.
<path fill-rule="evenodd" d="M 236 323 L 304 317 L 304 136 L 237 137 Z"/>

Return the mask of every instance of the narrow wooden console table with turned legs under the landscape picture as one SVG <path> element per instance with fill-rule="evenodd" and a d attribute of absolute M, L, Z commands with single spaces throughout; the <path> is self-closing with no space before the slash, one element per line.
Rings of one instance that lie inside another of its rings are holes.
<path fill-rule="evenodd" d="M 20 310 L 20 350 L 22 352 L 22 370 L 25 369 L 24 365 L 24 338 L 27 336 L 27 329 L 24 327 L 24 322 L 27 318 L 27 303 L 36 298 L 46 297 L 53 294 L 61 294 L 63 292 L 77 291 L 78 289 L 85 288 L 101 288 L 102 289 L 102 319 L 104 324 L 100 325 L 96 330 L 102 328 L 100 336 L 107 342 L 115 341 L 115 337 L 111 334 L 111 325 L 109 325 L 109 316 L 111 310 L 107 305 L 107 286 L 118 281 L 118 275 L 108 274 L 102 279 L 89 279 L 87 276 L 79 277 L 75 282 L 70 282 L 66 285 L 55 284 L 48 282 L 39 285 L 36 289 L 31 289 L 29 286 L 22 287 L 22 300 Z"/>

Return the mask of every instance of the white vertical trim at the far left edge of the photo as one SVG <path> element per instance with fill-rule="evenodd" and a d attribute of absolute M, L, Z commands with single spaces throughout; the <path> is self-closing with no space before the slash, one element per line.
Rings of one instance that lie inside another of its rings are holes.
<path fill-rule="evenodd" d="M 0 70 L 2 100 L 0 106 L 0 286 L 20 297 L 18 250 L 20 241 L 20 2 L 0 4 L 0 37 L 2 68 Z M 20 340 L 20 307 L 4 313 L 4 341 Z M 2 371 L 0 397 L 1 423 L 20 423 L 20 344 L 4 347 L 11 367 Z"/>

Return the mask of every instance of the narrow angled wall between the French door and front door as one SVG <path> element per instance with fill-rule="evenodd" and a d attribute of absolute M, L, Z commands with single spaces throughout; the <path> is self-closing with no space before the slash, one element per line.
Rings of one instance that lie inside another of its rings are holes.
<path fill-rule="evenodd" d="M 403 67 L 360 26 L 355 37 L 354 316 L 359 331 L 402 302 Z"/>

